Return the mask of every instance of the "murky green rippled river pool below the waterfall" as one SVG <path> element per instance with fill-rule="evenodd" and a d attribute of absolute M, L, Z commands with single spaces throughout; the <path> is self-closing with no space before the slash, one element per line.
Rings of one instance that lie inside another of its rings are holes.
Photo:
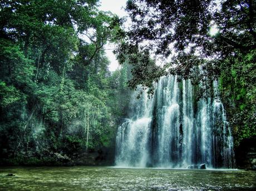
<path fill-rule="evenodd" d="M 0 190 L 256 190 L 255 181 L 244 170 L 0 167 Z"/>

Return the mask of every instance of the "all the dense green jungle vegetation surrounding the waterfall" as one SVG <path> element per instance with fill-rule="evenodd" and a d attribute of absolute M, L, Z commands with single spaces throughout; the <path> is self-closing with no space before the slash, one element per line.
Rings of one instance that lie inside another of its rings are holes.
<path fill-rule="evenodd" d="M 206 87 L 219 79 L 235 145 L 256 135 L 255 1 L 129 0 L 128 31 L 97 0 L 0 6 L 1 164 L 55 164 L 51 153 L 114 149 L 130 89 L 153 93 L 168 74 L 194 84 L 207 77 Z M 121 68 L 112 73 L 107 42 L 118 44 Z"/>

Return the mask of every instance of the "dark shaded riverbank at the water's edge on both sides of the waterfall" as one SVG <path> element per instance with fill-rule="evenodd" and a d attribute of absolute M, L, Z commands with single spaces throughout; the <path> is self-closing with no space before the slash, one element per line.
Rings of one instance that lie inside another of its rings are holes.
<path fill-rule="evenodd" d="M 235 150 L 235 168 L 256 170 L 256 140 L 255 138 L 244 139 Z M 88 152 L 65 152 L 46 151 L 41 155 L 17 155 L 12 158 L 1 158 L 0 166 L 113 166 L 115 159 L 114 148 L 101 148 L 88 150 Z"/>

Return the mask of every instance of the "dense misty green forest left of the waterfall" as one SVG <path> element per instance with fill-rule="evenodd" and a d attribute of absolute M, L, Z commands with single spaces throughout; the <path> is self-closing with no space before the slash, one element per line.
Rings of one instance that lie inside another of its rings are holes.
<path fill-rule="evenodd" d="M 52 152 L 114 146 L 125 109 L 113 101 L 121 94 L 120 71 L 108 71 L 103 48 L 122 35 L 121 19 L 99 11 L 97 2 L 1 1 L 3 161 L 52 163 Z"/>

